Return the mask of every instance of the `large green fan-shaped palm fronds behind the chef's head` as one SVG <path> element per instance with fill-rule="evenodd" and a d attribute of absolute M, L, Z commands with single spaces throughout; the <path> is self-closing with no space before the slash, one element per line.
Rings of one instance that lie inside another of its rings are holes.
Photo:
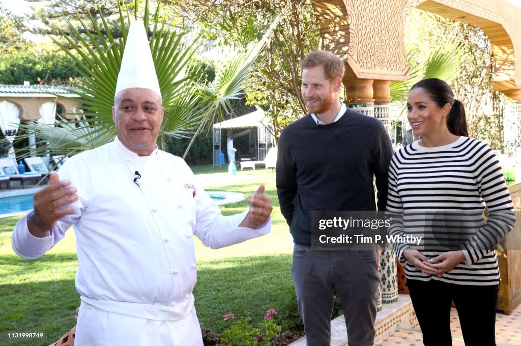
<path fill-rule="evenodd" d="M 120 39 L 114 39 L 110 34 L 111 30 L 101 11 L 101 24 L 90 11 L 87 11 L 88 20 L 77 17 L 82 30 L 64 18 L 74 40 L 56 29 L 66 42 L 54 42 L 71 57 L 76 64 L 71 65 L 71 68 L 81 75 L 81 78 L 72 82 L 73 88 L 68 90 L 81 97 L 82 112 L 75 114 L 76 120 L 60 121 L 54 126 L 39 123 L 21 125 L 27 131 L 23 137 L 35 135 L 39 139 L 36 147 L 31 148 L 33 155 L 41 156 L 49 151 L 72 155 L 103 145 L 115 137 L 111 107 L 114 105 L 117 75 L 131 16 L 121 5 L 118 9 L 123 32 Z M 132 15 L 137 17 L 138 10 L 138 2 L 135 1 Z M 266 46 L 281 16 L 271 23 L 261 39 L 250 42 L 244 48 L 228 51 L 227 58 L 220 59 L 215 66 L 216 78 L 207 84 L 202 79 L 204 71 L 192 63 L 198 38 L 190 44 L 183 43 L 185 32 L 161 22 L 160 14 L 160 4 L 151 16 L 149 1 L 144 2 L 143 22 L 145 28 L 152 25 L 150 48 L 165 107 L 165 119 L 158 137 L 158 145 L 163 149 L 166 136 L 188 137 L 196 129 L 195 138 L 205 124 L 221 119 L 223 114 L 230 112 L 230 102 L 242 96 L 248 70 Z M 96 34 L 92 34 L 93 31 Z M 72 50 L 69 51 L 66 44 Z M 51 145 L 45 145 L 47 143 Z M 27 152 L 27 148 L 24 149 Z"/>

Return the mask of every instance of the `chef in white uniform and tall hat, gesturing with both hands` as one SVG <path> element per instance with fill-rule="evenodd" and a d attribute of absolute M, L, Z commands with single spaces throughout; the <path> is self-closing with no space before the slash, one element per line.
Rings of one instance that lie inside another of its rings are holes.
<path fill-rule="evenodd" d="M 165 109 L 141 20 L 133 20 L 112 110 L 113 142 L 72 156 L 34 195 L 14 251 L 44 255 L 73 226 L 83 345 L 202 345 L 192 290 L 193 236 L 222 248 L 269 233 L 261 186 L 249 210 L 222 216 L 177 156 L 158 150 Z"/>

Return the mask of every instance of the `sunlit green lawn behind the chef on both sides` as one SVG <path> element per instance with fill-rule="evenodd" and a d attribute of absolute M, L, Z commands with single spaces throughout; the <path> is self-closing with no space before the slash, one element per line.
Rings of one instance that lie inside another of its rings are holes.
<path fill-rule="evenodd" d="M 220 331 L 222 316 L 251 317 L 260 322 L 266 310 L 275 308 L 283 328 L 292 328 L 296 300 L 291 280 L 292 243 L 286 221 L 280 214 L 275 172 L 248 169 L 228 175 L 227 166 L 193 168 L 206 190 L 234 191 L 249 195 L 258 184 L 274 204 L 272 230 L 267 236 L 225 249 L 205 248 L 195 239 L 197 285 L 195 307 L 202 326 Z M 225 215 L 246 209 L 247 201 L 221 207 Z M 17 217 L 0 218 L 0 344 L 47 345 L 76 324 L 74 313 L 79 295 L 74 288 L 77 268 L 72 229 L 51 251 L 38 260 L 19 258 L 11 249 L 11 230 Z M 284 316 L 286 318 L 284 318 Z M 291 318 L 289 318 L 291 316 Z M 6 332 L 44 332 L 43 339 L 7 340 Z"/>

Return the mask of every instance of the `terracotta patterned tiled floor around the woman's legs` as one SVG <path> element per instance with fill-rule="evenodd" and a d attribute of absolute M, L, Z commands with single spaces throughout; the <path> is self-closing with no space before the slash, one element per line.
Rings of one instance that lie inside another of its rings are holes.
<path fill-rule="evenodd" d="M 465 346 L 456 309 L 451 311 L 452 345 Z M 511 315 L 498 313 L 495 324 L 495 340 L 498 346 L 521 345 L 521 305 Z M 377 346 L 422 346 L 420 329 L 396 328 L 387 336 L 376 341 Z M 478 345 L 477 345 L 478 346 Z"/>

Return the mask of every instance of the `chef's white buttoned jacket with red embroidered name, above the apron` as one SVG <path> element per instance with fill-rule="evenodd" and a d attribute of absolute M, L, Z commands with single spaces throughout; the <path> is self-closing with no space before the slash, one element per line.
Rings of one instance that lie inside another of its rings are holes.
<path fill-rule="evenodd" d="M 136 171 L 141 178 L 134 182 Z M 193 310 L 193 234 L 217 249 L 271 228 L 271 219 L 256 230 L 238 227 L 247 211 L 222 216 L 180 157 L 157 149 L 138 156 L 118 139 L 71 157 L 59 178 L 78 189 L 75 211 L 58 220 L 46 238 L 33 237 L 23 217 L 12 244 L 23 258 L 40 257 L 72 225 L 82 307 L 148 320 L 181 320 Z"/>

